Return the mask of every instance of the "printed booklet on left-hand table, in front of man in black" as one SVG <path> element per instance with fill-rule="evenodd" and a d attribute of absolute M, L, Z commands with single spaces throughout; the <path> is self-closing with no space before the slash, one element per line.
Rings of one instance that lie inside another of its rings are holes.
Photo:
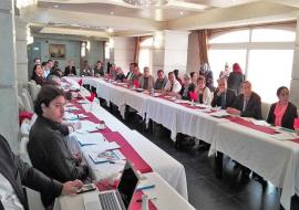
<path fill-rule="evenodd" d="M 90 158 L 94 164 L 103 164 L 103 162 L 114 162 L 117 160 L 124 160 L 125 157 L 124 155 L 118 150 L 109 150 L 109 151 L 103 151 L 103 153 L 91 153 Z"/>

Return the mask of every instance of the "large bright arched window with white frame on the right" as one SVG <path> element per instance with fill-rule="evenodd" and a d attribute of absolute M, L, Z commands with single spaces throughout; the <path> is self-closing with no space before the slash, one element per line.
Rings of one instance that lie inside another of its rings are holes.
<path fill-rule="evenodd" d="M 276 102 L 276 90 L 290 86 L 295 39 L 295 25 L 213 34 L 208 57 L 215 81 L 226 62 L 239 63 L 261 101 Z"/>

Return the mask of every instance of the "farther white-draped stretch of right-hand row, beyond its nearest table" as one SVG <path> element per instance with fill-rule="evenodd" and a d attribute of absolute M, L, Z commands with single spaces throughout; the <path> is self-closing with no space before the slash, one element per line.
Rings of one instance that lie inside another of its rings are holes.
<path fill-rule="evenodd" d="M 79 77 L 72 78 L 81 80 Z M 182 133 L 210 143 L 216 125 L 227 122 L 210 116 L 209 111 L 205 113 L 204 106 L 189 106 L 187 101 L 178 102 L 167 96 L 153 97 L 148 93 L 130 90 L 124 83 L 107 82 L 99 77 L 82 77 L 82 81 L 83 84 L 95 87 L 99 97 L 115 104 L 122 116 L 124 116 L 125 106 L 128 105 L 136 109 L 146 123 L 152 119 L 162 124 L 171 130 L 171 137 L 174 141 L 176 135 Z"/>

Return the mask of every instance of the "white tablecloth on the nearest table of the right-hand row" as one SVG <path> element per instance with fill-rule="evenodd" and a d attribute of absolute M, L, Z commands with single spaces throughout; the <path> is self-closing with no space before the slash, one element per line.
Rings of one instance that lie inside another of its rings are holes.
<path fill-rule="evenodd" d="M 219 124 L 210 151 L 221 151 L 282 188 L 280 198 L 290 209 L 290 198 L 299 187 L 299 145 L 235 123 Z"/>

